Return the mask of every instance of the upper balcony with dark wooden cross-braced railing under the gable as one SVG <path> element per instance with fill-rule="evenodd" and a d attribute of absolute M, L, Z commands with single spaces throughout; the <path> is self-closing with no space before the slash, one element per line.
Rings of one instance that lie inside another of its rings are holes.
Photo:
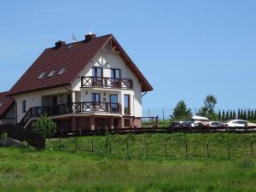
<path fill-rule="evenodd" d="M 97 88 L 108 88 L 108 89 L 132 90 L 133 82 L 131 79 L 82 77 L 81 87 L 83 88 L 97 87 Z"/>

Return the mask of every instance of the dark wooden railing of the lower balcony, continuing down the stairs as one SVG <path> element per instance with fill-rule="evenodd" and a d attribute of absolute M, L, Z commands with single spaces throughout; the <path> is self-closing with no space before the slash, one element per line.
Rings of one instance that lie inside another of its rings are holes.
<path fill-rule="evenodd" d="M 70 113 L 121 113 L 121 104 L 113 102 L 72 102 L 49 107 L 30 108 L 23 119 L 21 126 L 25 126 L 30 119 L 39 118 L 43 114 L 49 117 Z"/>

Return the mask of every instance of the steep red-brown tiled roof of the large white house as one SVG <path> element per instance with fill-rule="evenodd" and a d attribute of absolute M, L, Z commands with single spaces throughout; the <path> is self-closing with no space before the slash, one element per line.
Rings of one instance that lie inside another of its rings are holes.
<path fill-rule="evenodd" d="M 38 59 L 34 61 L 26 73 L 18 80 L 18 82 L 9 91 L 10 96 L 15 96 L 21 93 L 26 93 L 35 90 L 45 90 L 49 88 L 65 86 L 72 84 L 74 79 L 83 70 L 84 66 L 102 49 L 108 42 L 112 40 L 116 44 L 117 49 L 120 50 L 122 56 L 131 67 L 131 71 L 135 73 L 142 83 L 143 91 L 153 90 L 152 86 L 144 78 L 143 74 L 137 69 L 135 64 L 131 61 L 128 55 L 125 54 L 124 49 L 113 38 L 113 35 L 106 35 L 98 38 L 93 38 L 89 42 L 80 41 L 73 44 L 66 44 L 61 48 L 45 49 L 39 55 Z M 57 75 L 65 68 L 65 73 Z M 52 70 L 55 70 L 55 76 L 52 78 L 44 77 L 38 79 L 41 73 L 48 75 Z"/>

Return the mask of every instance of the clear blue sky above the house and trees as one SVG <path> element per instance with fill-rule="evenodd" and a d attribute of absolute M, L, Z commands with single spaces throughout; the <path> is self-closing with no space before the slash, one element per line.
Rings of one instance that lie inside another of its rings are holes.
<path fill-rule="evenodd" d="M 256 1 L 5 1 L 0 91 L 47 47 L 88 32 L 119 40 L 154 91 L 143 108 L 256 108 Z M 29 86 L 29 84 L 28 84 Z"/>

